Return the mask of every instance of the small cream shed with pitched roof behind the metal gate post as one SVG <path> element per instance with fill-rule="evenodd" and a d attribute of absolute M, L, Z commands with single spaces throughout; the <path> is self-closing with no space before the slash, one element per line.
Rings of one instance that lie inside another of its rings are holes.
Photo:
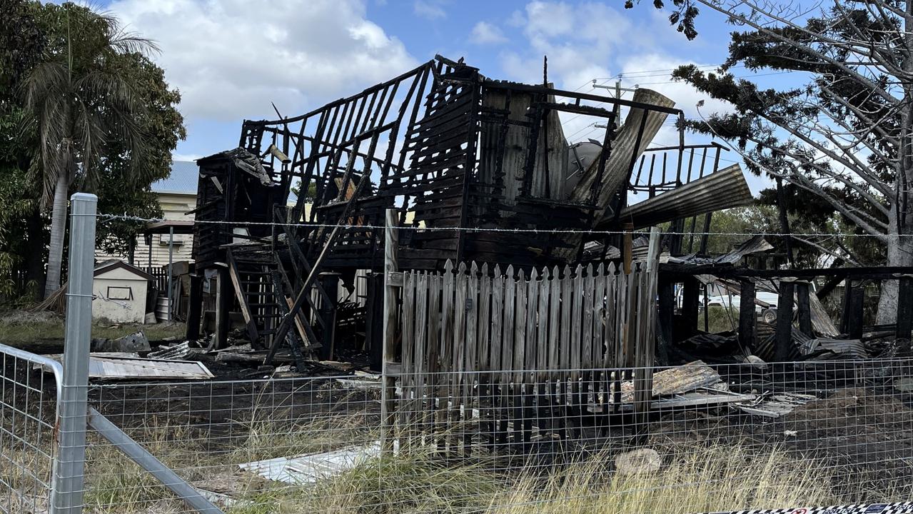
<path fill-rule="evenodd" d="M 121 260 L 95 267 L 92 280 L 92 318 L 118 323 L 142 323 L 152 275 Z"/>

